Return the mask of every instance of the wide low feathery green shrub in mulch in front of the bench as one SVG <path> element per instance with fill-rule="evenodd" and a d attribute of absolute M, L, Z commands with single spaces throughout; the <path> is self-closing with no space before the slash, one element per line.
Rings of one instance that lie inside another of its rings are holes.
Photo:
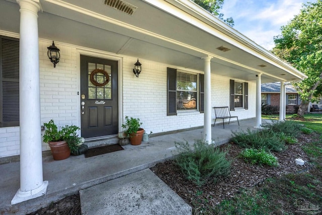
<path fill-rule="evenodd" d="M 265 149 L 280 152 L 286 149 L 285 141 L 270 129 L 232 132 L 231 141 L 244 148 Z"/>

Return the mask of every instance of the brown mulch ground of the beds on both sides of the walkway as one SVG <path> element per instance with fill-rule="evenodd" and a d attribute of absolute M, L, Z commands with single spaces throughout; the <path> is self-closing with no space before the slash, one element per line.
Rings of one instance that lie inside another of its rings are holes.
<path fill-rule="evenodd" d="M 301 145 L 313 141 L 318 137 L 319 135 L 314 133 L 310 135 L 301 134 L 298 137 L 300 144 L 288 145 L 288 149 L 283 153 L 275 153 L 279 162 L 278 167 L 251 165 L 237 157 L 241 151 L 240 147 L 231 143 L 222 145 L 220 148 L 228 150 L 227 157 L 232 160 L 231 175 L 227 178 L 219 179 L 217 183 L 208 183 L 206 186 L 203 186 L 202 192 L 200 191 L 200 187 L 185 179 L 173 161 L 159 163 L 152 167 L 151 170 L 187 203 L 191 203 L 190 199 L 193 196 L 195 197 L 195 193 L 199 192 L 200 199 L 205 199 L 211 195 L 212 198 L 209 204 L 217 205 L 223 199 L 233 197 L 240 188 L 253 187 L 263 182 L 266 178 L 280 177 L 287 173 L 296 173 L 309 169 L 311 167 L 309 163 L 299 166 L 295 164 L 295 159 L 302 158 L 304 161 L 308 161 L 308 157 L 301 149 Z M 52 203 L 46 208 L 41 208 L 30 214 L 81 214 L 79 195 L 68 196 L 56 203 Z"/>

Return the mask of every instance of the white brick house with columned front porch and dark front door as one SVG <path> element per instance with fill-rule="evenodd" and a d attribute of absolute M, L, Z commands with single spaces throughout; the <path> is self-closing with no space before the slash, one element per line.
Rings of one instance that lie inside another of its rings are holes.
<path fill-rule="evenodd" d="M 0 5 L 0 157 L 20 155 L 21 167 L 13 204 L 47 189 L 41 125 L 50 119 L 80 126 L 87 140 L 117 136 L 125 116 L 153 133 L 203 126 L 210 143 L 213 106 L 260 127 L 261 83 L 306 78 L 187 0 Z"/>

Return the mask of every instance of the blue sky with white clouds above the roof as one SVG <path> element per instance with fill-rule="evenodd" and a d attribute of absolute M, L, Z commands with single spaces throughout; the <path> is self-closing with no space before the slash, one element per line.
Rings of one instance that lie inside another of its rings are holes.
<path fill-rule="evenodd" d="M 316 0 L 224 0 L 219 12 L 224 19 L 232 17 L 235 30 L 271 50 L 273 37 L 281 34 L 281 27 L 298 15 L 307 2 Z"/>

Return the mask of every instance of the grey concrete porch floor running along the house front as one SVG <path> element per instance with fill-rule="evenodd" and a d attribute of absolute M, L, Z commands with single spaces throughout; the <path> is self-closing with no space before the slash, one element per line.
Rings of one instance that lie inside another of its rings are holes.
<path fill-rule="evenodd" d="M 268 122 L 262 120 L 262 123 Z M 254 129 L 255 119 L 240 120 L 229 125 L 212 126 L 212 139 L 216 145 L 228 142 L 232 131 Z M 11 200 L 20 187 L 20 163 L 0 165 L 0 214 L 26 214 L 48 206 L 65 196 L 76 194 L 103 182 L 129 175 L 154 166 L 174 157 L 177 152 L 175 141 L 203 138 L 203 129 L 150 137 L 140 146 L 126 145 L 124 150 L 105 155 L 85 158 L 84 155 L 70 156 L 66 160 L 54 161 L 52 156 L 43 157 L 43 179 L 48 181 L 44 196 L 11 205 Z"/>

